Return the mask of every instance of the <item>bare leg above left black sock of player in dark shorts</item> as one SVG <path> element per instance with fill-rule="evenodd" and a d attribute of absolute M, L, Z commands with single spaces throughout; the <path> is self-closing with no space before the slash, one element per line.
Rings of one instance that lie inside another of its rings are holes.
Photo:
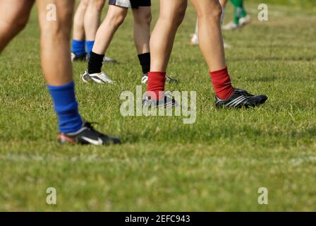
<path fill-rule="evenodd" d="M 128 8 L 109 6 L 107 17 L 97 30 L 92 52 L 104 54 L 107 51 L 116 30 L 125 20 L 127 12 Z"/>

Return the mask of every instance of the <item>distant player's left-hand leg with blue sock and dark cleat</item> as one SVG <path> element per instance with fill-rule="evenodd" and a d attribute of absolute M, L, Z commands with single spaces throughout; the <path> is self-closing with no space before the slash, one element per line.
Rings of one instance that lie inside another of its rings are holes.
<path fill-rule="evenodd" d="M 81 0 L 73 19 L 73 41 L 71 44 L 71 59 L 85 60 L 85 25 L 84 18 L 89 0 Z"/>

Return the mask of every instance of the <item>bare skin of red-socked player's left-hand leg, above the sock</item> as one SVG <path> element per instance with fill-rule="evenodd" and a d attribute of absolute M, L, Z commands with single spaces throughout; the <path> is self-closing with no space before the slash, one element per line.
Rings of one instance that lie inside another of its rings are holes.
<path fill-rule="evenodd" d="M 186 13 L 186 0 L 160 0 L 160 14 L 150 39 L 150 71 L 165 72 L 174 38 Z"/>

